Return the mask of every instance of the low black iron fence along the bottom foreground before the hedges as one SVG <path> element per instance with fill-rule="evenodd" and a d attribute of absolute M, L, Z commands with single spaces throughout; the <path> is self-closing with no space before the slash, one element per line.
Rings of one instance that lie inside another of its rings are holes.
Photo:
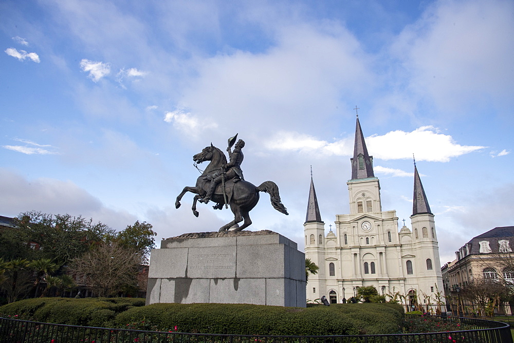
<path fill-rule="evenodd" d="M 179 332 L 138 331 L 49 324 L 27 320 L 0 318 L 0 342 L 174 342 L 174 343 L 512 343 L 508 324 L 475 318 L 441 317 L 458 321 L 473 330 L 395 335 L 349 336 L 260 336 L 194 334 Z"/>

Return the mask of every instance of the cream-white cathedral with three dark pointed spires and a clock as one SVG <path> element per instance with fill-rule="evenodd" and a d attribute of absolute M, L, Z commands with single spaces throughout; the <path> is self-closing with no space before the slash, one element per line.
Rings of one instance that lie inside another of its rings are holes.
<path fill-rule="evenodd" d="M 309 275 L 307 299 L 323 295 L 340 303 L 359 287 L 373 285 L 380 295 L 400 294 L 414 303 L 418 297 L 443 292 L 434 215 L 414 166 L 412 231 L 398 232 L 396 211 L 382 211 L 380 182 L 373 173 L 359 118 L 355 128 L 352 179 L 346 183 L 350 214 L 336 215 L 335 233 L 325 236 L 314 182 L 310 180 L 309 203 L 304 224 L 305 258 L 319 266 Z"/>

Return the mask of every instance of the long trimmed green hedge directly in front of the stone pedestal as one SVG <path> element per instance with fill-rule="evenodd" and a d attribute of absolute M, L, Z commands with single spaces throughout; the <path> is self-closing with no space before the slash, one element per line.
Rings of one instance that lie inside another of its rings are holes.
<path fill-rule="evenodd" d="M 251 304 L 156 303 L 119 314 L 118 328 L 253 335 L 357 335 L 401 333 L 396 304 L 333 304 L 291 308 Z"/>

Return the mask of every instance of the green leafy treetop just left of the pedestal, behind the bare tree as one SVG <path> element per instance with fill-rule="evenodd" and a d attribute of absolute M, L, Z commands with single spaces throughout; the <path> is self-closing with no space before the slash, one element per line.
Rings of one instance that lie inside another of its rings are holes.
<path fill-rule="evenodd" d="M 152 224 L 145 221 L 136 221 L 134 225 L 127 225 L 125 230 L 116 234 L 115 241 L 129 249 L 140 252 L 146 261 L 150 251 L 155 248 L 157 233 L 152 230 Z"/>

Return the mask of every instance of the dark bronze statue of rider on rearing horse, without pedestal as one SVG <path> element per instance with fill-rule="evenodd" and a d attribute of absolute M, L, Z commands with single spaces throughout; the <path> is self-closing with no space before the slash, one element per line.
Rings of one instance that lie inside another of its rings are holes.
<path fill-rule="evenodd" d="M 196 202 L 216 202 L 214 209 L 222 209 L 230 206 L 234 214 L 234 220 L 219 228 L 219 231 L 227 231 L 234 227 L 234 231 L 241 231 L 248 227 L 252 221 L 249 212 L 259 201 L 259 192 L 266 192 L 270 196 L 271 205 L 277 211 L 288 215 L 287 209 L 280 201 L 279 187 L 273 181 L 264 181 L 259 187 L 246 181 L 241 170 L 243 162 L 243 147 L 245 142 L 240 139 L 235 143 L 237 134 L 228 140 L 229 162 L 222 150 L 213 146 L 205 147 L 193 156 L 194 165 L 210 161 L 202 174 L 196 179 L 195 187 L 184 187 L 175 201 L 175 207 L 180 207 L 180 200 L 187 192 L 196 194 L 193 199 L 193 214 L 198 217 Z M 234 151 L 231 150 L 234 145 Z M 199 170 L 199 169 L 198 169 Z M 201 171 L 200 171 L 201 172 Z M 243 222 L 241 226 L 238 223 Z"/>

